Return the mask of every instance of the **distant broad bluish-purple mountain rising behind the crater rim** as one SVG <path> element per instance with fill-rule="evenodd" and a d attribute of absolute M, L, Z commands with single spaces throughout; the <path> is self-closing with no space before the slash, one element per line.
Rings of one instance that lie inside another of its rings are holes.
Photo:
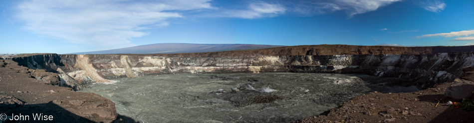
<path fill-rule="evenodd" d="M 193 44 L 193 43 L 157 43 L 120 49 L 78 52 L 69 54 L 172 54 L 172 53 L 198 53 L 218 52 L 230 50 L 252 50 L 282 47 L 282 45 L 257 45 L 257 44 Z"/>

